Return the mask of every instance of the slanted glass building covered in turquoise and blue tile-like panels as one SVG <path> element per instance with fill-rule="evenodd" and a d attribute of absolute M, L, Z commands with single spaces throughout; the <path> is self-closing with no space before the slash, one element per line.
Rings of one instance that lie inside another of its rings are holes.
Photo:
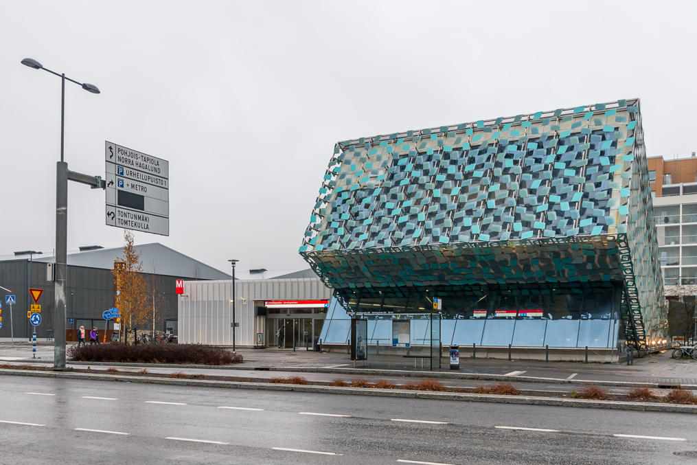
<path fill-rule="evenodd" d="M 300 254 L 333 289 L 324 344 L 354 318 L 533 357 L 668 337 L 638 99 L 339 142 Z"/>

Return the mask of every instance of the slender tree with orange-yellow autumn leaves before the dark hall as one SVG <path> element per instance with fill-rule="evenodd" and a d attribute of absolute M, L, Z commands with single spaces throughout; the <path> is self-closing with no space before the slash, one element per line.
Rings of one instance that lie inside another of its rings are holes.
<path fill-rule="evenodd" d="M 114 262 L 114 280 L 116 281 L 116 296 L 114 305 L 121 314 L 121 328 L 127 330 L 134 324 L 148 322 L 150 307 L 148 305 L 148 291 L 146 289 L 143 265 L 140 261 L 140 253 L 133 247 L 133 234 L 124 231 L 123 255 Z M 128 333 L 125 333 L 128 334 Z M 127 341 L 128 338 L 122 339 Z"/>

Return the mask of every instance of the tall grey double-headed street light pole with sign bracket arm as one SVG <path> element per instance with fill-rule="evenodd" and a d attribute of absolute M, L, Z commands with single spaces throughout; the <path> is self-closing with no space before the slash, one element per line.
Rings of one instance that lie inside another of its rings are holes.
<path fill-rule="evenodd" d="M 56 163 L 56 256 L 55 284 L 54 284 L 54 360 L 53 368 L 63 370 L 66 367 L 66 278 L 68 277 L 67 249 L 68 249 L 68 179 L 79 183 L 89 184 L 93 188 L 104 188 L 104 182 L 100 176 L 86 176 L 84 174 L 68 171 L 68 163 L 63 158 L 63 142 L 65 140 L 65 114 L 66 114 L 66 79 L 74 82 L 82 89 L 91 93 L 100 93 L 97 86 L 86 82 L 77 82 L 65 73 L 55 73 L 45 68 L 41 63 L 31 58 L 22 60 L 24 66 L 35 70 L 45 70 L 47 73 L 61 77 L 61 161 Z"/>

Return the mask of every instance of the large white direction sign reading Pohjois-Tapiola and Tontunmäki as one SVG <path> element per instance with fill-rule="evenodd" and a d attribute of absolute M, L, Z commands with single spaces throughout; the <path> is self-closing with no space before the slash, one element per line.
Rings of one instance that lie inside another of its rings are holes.
<path fill-rule="evenodd" d="M 169 236 L 169 162 L 105 142 L 106 223 Z"/>

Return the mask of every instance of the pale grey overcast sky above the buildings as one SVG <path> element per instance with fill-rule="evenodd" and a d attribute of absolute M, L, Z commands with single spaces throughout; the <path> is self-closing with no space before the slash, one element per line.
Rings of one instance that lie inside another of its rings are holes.
<path fill-rule="evenodd" d="M 52 253 L 66 161 L 104 141 L 169 160 L 170 235 L 229 272 L 306 268 L 335 142 L 641 98 L 649 156 L 697 151 L 697 2 L 0 1 L 0 256 Z M 692 116 L 690 116 L 692 115 Z M 68 252 L 118 247 L 105 194 L 70 183 Z"/>

